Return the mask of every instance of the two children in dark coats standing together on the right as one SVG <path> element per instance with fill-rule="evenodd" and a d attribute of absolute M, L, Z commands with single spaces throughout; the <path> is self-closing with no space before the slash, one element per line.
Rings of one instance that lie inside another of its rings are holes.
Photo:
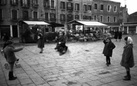
<path fill-rule="evenodd" d="M 133 40 L 131 37 L 125 37 L 125 46 L 122 54 L 121 66 L 125 67 L 127 75 L 124 76 L 123 80 L 131 80 L 130 68 L 132 68 L 134 64 L 134 55 L 133 55 Z M 113 49 L 116 47 L 115 44 L 111 41 L 109 37 L 104 39 L 103 43 L 105 44 L 103 49 L 103 54 L 106 56 L 106 65 L 109 66 L 111 64 L 111 59 Z"/>

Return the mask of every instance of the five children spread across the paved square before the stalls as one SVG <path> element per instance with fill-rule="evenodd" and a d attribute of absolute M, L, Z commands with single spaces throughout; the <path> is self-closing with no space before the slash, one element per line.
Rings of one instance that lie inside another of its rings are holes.
<path fill-rule="evenodd" d="M 122 60 L 121 60 L 121 66 L 125 67 L 127 75 L 124 77 L 124 80 L 131 80 L 131 75 L 130 75 L 130 68 L 134 66 L 134 55 L 133 55 L 133 40 L 131 37 L 125 37 L 125 46 L 122 54 Z M 64 32 L 60 31 L 58 33 L 58 36 L 56 38 L 57 45 L 55 49 L 59 52 L 60 55 L 63 55 L 68 47 L 66 46 L 66 37 Z M 110 37 L 106 37 L 103 40 L 104 43 L 104 49 L 103 49 L 103 54 L 106 57 L 106 65 L 109 66 L 111 65 L 111 58 L 113 49 L 116 47 L 115 44 L 111 41 Z M 40 48 L 40 53 L 43 53 L 43 48 L 44 48 L 44 35 L 42 33 L 41 29 L 38 29 L 38 48 Z M 13 46 L 13 42 L 11 40 L 6 40 L 4 43 L 3 47 L 3 52 L 6 61 L 10 65 L 10 70 L 9 70 L 9 80 L 15 80 L 17 77 L 14 76 L 13 74 L 13 68 L 14 64 L 17 60 L 14 52 L 18 52 L 23 50 L 23 47 L 21 48 L 15 48 Z"/>

